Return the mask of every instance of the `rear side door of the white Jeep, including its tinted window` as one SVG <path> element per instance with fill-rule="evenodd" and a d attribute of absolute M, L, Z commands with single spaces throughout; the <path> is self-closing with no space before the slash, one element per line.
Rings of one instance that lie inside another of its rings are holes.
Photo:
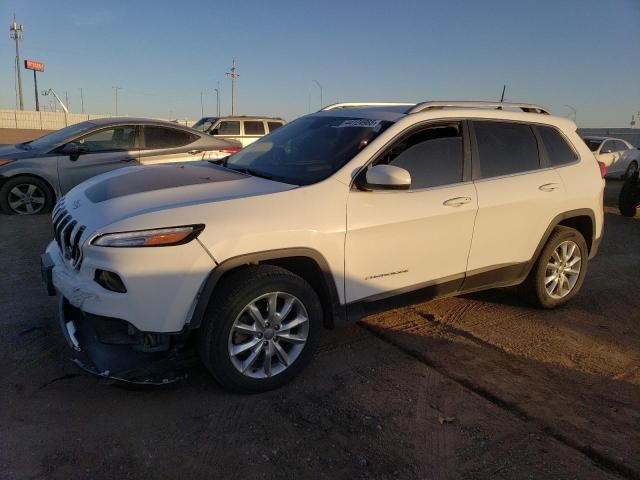
<path fill-rule="evenodd" d="M 565 195 L 559 174 L 542 164 L 531 125 L 494 120 L 471 125 L 478 215 L 464 289 L 520 276 L 561 213 Z"/>

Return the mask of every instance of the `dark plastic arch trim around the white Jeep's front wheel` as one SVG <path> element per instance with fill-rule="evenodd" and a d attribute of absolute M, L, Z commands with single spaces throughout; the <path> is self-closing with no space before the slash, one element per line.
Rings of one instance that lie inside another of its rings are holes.
<path fill-rule="evenodd" d="M 260 264 L 284 268 L 309 282 L 320 297 L 326 328 L 333 328 L 337 321 L 346 318 L 345 307 L 340 303 L 328 262 L 317 250 L 300 247 L 250 253 L 221 262 L 209 273 L 203 284 L 189 323 L 190 328 L 200 327 L 213 291 L 227 274 L 247 265 Z"/>

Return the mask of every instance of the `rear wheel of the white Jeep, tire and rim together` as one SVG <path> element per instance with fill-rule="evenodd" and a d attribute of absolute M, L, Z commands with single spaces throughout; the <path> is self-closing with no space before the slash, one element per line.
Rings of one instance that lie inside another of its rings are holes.
<path fill-rule="evenodd" d="M 582 234 L 558 226 L 521 285 L 521 292 L 540 308 L 564 305 L 580 291 L 588 261 L 589 250 Z"/>

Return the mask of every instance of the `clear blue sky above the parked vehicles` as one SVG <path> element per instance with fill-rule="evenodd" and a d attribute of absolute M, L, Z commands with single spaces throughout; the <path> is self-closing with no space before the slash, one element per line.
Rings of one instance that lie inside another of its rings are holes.
<path fill-rule="evenodd" d="M 9 23 L 40 89 L 72 111 L 199 118 L 223 114 L 237 58 L 238 111 L 292 119 L 357 100 L 506 100 L 577 110 L 582 127 L 628 126 L 640 110 L 640 0 L 3 0 L 0 108 L 15 107 Z M 23 70 L 25 108 L 33 76 Z M 41 97 L 42 98 L 42 97 Z M 48 98 L 42 99 L 48 105 Z"/>

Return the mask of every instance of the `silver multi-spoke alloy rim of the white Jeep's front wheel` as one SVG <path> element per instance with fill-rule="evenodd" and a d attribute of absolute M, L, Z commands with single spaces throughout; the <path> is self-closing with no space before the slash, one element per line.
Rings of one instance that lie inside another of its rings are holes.
<path fill-rule="evenodd" d="M 309 336 L 309 315 L 302 302 L 286 292 L 271 292 L 250 301 L 229 333 L 233 366 L 251 378 L 270 378 L 289 368 Z"/>

